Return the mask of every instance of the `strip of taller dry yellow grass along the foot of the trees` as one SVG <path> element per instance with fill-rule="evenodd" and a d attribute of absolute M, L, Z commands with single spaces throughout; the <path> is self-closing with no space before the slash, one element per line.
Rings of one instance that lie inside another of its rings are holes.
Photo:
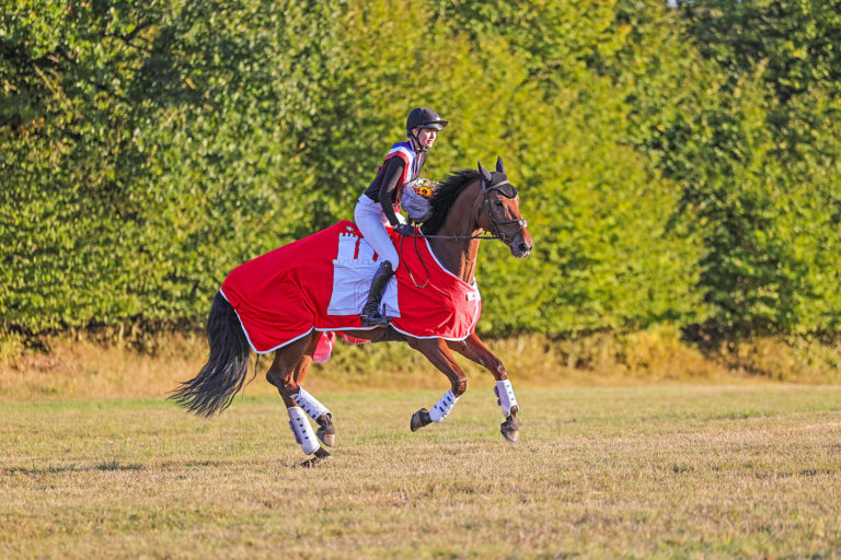
<path fill-rule="evenodd" d="M 21 340 L 0 339 L 0 401 L 60 398 L 162 397 L 176 382 L 193 377 L 207 353 L 201 337 L 161 335 L 143 351 L 120 343 L 59 337 L 48 352 L 25 350 Z M 757 339 L 705 354 L 669 329 L 625 335 L 597 334 L 552 340 L 527 335 L 489 340 L 519 386 L 594 386 L 671 380 L 734 383 L 773 378 L 841 384 L 841 343 L 806 339 Z M 270 395 L 263 381 L 270 357 L 261 360 L 258 380 L 246 395 Z M 471 378 L 479 366 L 460 360 Z M 439 388 L 443 376 L 405 345 L 339 343 L 333 359 L 313 369 L 308 383 L 318 390 Z"/>

